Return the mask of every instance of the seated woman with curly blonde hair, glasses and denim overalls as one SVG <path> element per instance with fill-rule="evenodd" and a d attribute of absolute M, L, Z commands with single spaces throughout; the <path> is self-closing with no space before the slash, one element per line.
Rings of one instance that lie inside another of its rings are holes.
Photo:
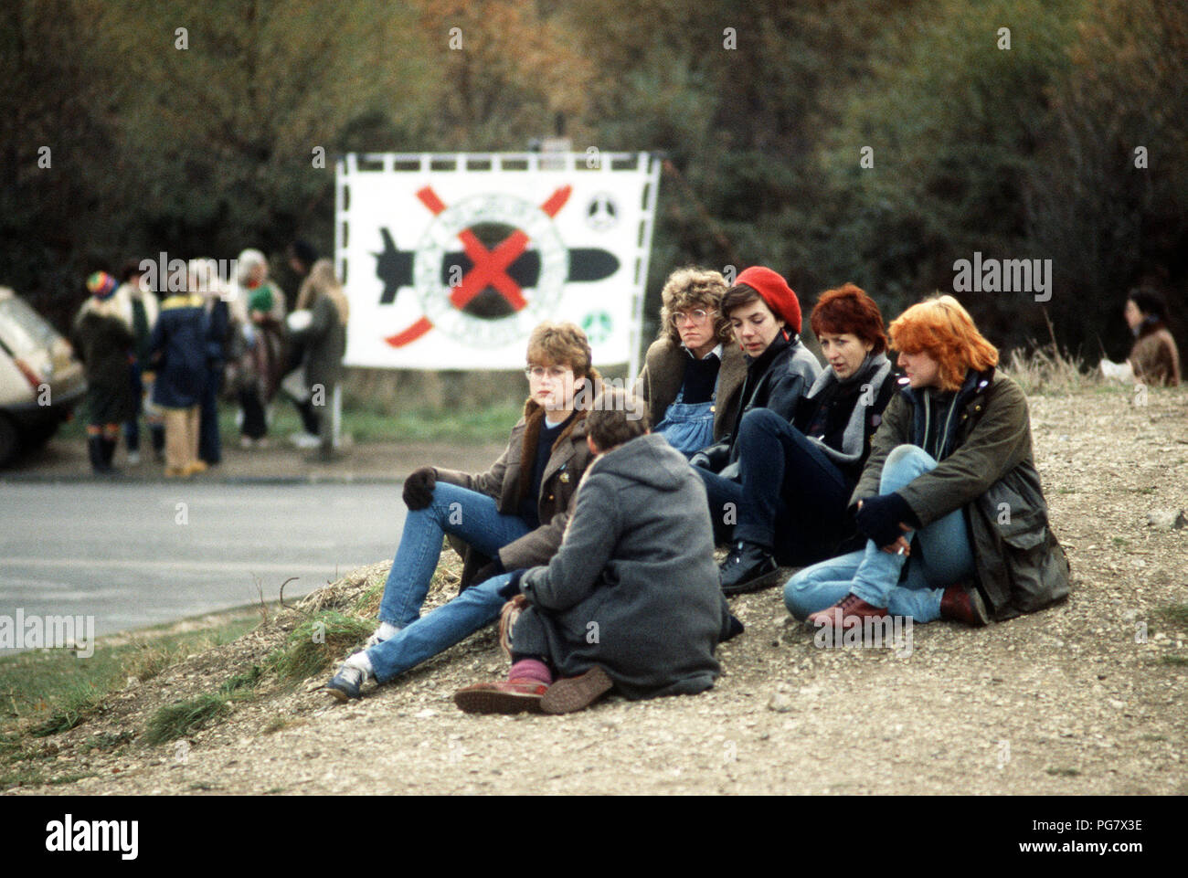
<path fill-rule="evenodd" d="M 685 267 L 661 291 L 661 331 L 634 392 L 655 432 L 687 457 L 722 438 L 738 413 L 746 360 L 722 314 L 726 278 Z"/>

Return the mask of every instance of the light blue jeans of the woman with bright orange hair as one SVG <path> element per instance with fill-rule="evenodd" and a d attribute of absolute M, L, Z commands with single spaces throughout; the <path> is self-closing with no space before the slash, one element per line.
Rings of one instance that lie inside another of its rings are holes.
<path fill-rule="evenodd" d="M 891 450 L 883 466 L 879 493 L 889 494 L 918 475 L 936 468 L 936 461 L 917 446 Z M 906 575 L 901 574 L 906 563 Z M 973 549 L 960 509 L 911 535 L 911 556 L 890 555 L 866 541 L 866 548 L 808 567 L 784 586 L 784 604 L 797 619 L 832 607 L 855 594 L 891 615 L 910 615 L 916 623 L 941 618 L 941 595 L 974 576 Z"/>

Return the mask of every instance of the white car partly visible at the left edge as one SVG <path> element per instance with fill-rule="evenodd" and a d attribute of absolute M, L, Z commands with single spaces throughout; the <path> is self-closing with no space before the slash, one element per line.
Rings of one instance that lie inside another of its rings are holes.
<path fill-rule="evenodd" d="M 70 342 L 0 286 L 0 466 L 48 442 L 86 392 Z"/>

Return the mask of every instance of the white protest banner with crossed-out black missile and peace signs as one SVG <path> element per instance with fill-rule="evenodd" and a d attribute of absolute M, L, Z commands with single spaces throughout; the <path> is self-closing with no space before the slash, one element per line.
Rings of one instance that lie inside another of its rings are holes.
<path fill-rule="evenodd" d="M 634 377 L 658 184 L 647 153 L 345 156 L 346 364 L 519 368 L 551 320 Z"/>

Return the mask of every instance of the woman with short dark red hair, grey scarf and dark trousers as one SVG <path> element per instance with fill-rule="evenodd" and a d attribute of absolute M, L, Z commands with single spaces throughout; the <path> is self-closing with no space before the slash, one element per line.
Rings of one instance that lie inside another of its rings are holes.
<path fill-rule="evenodd" d="M 879 307 L 861 289 L 827 290 L 809 317 L 828 368 L 805 385 L 791 422 L 756 409 L 739 429 L 741 484 L 726 594 L 778 583 L 779 562 L 830 557 L 854 536 L 846 514 L 895 381 Z"/>

